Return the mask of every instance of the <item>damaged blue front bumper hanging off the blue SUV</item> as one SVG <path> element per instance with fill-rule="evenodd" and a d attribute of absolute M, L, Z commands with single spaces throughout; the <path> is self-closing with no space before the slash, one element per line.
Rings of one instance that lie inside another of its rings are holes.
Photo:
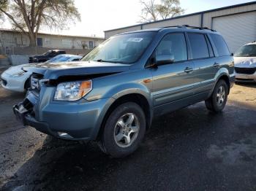
<path fill-rule="evenodd" d="M 41 94 L 42 93 L 42 94 Z M 95 101 L 54 101 L 54 90 L 44 87 L 40 95 L 29 91 L 13 112 L 23 125 L 61 139 L 95 140 L 113 98 Z"/>

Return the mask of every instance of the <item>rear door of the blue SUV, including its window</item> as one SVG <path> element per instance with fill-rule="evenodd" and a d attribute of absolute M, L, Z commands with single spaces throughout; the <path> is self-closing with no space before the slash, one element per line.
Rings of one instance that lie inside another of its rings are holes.
<path fill-rule="evenodd" d="M 195 94 L 203 93 L 214 86 L 216 68 L 219 65 L 214 58 L 214 51 L 206 34 L 187 33 L 187 36 L 195 65 Z"/>

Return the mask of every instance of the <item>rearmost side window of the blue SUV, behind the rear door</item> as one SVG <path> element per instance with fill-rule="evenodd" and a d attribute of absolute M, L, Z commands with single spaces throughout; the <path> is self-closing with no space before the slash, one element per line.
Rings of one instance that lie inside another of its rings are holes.
<path fill-rule="evenodd" d="M 210 36 L 214 42 L 219 56 L 230 55 L 230 50 L 228 50 L 227 44 L 222 36 L 220 36 L 219 34 L 210 34 Z"/>

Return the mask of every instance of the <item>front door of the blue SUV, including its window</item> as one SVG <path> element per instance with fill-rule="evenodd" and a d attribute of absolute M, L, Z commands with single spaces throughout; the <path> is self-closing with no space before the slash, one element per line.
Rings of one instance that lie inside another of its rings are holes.
<path fill-rule="evenodd" d="M 194 63 L 188 60 L 184 33 L 167 34 L 154 54 L 156 59 L 161 55 L 170 55 L 174 59 L 173 63 L 152 69 L 155 112 L 162 114 L 186 106 L 185 100 L 193 95 L 195 79 Z M 176 103 L 175 106 L 172 103 Z"/>

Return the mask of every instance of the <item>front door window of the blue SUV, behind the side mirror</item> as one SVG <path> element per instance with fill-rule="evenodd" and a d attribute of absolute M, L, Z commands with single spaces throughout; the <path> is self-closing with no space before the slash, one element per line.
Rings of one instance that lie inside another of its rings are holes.
<path fill-rule="evenodd" d="M 167 34 L 156 49 L 158 55 L 170 55 L 174 62 L 187 61 L 187 45 L 184 34 Z"/>

